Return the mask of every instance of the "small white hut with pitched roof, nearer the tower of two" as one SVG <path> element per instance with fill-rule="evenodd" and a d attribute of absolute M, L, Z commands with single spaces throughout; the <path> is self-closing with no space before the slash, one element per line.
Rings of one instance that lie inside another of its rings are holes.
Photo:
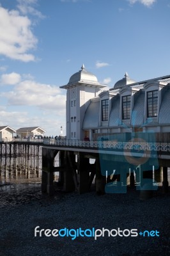
<path fill-rule="evenodd" d="M 19 138 L 38 138 L 43 136 L 45 130 L 40 127 L 23 127 L 17 130 Z"/>

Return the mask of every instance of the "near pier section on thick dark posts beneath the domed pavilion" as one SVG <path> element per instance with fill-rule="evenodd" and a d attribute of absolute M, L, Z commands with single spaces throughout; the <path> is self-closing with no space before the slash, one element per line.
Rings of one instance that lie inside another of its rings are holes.
<path fill-rule="evenodd" d="M 167 193 L 169 134 L 135 134 L 140 135 L 138 138 L 121 134 L 121 138 L 123 135 L 128 136 L 128 140 L 120 141 L 120 134 L 112 134 L 110 141 L 104 137 L 103 141 L 101 138 L 98 141 L 44 141 L 42 191 L 49 195 L 54 193 L 54 172 L 59 172 L 59 184 L 66 192 L 86 193 L 95 179 L 98 194 L 127 193 L 127 186 L 153 191 L 157 189 L 154 183 L 162 184 L 162 192 Z M 153 135 L 154 142 L 151 141 Z M 54 167 L 57 155 L 59 166 Z"/>

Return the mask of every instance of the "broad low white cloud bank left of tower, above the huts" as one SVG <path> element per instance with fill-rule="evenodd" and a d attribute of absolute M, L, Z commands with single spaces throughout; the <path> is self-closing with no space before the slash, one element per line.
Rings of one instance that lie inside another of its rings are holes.
<path fill-rule="evenodd" d="M 40 126 L 47 131 L 46 135 L 56 136 L 62 125 L 65 135 L 65 90 L 37 83 L 31 74 L 4 75 L 0 76 L 0 81 L 8 84 L 15 81 L 16 84 L 12 89 L 6 86 L 7 92 L 0 91 L 0 126 L 9 125 L 13 129 Z"/>

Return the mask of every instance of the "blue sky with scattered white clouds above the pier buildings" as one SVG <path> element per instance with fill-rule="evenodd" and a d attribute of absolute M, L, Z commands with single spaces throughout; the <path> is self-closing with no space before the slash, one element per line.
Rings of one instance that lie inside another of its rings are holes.
<path fill-rule="evenodd" d="M 170 0 L 0 0 L 0 126 L 66 130 L 70 76 L 170 74 Z"/>

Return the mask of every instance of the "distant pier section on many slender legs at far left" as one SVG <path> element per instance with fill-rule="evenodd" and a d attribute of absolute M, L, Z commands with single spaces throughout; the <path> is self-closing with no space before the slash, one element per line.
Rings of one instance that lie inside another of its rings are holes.
<path fill-rule="evenodd" d="M 29 141 L 6 141 L 0 143 L 0 175 L 24 174 L 29 179 L 31 173 L 40 177 L 42 170 L 42 147 L 40 143 Z"/>

